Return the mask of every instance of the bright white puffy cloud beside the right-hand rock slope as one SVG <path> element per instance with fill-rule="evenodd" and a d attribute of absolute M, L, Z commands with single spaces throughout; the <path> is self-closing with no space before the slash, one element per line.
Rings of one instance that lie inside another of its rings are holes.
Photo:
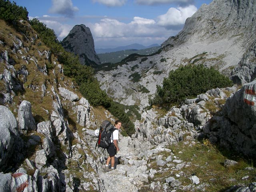
<path fill-rule="evenodd" d="M 188 17 L 191 17 L 197 11 L 196 6 L 190 5 L 182 8 L 170 8 L 166 14 L 158 16 L 158 25 L 165 28 L 183 25 Z"/>

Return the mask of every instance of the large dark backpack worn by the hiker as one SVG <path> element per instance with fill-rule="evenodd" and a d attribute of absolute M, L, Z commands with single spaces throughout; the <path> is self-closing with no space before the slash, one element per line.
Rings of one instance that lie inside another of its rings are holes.
<path fill-rule="evenodd" d="M 111 136 L 113 135 L 116 128 L 111 124 L 110 121 L 104 120 L 100 126 L 100 132 L 98 135 L 98 141 L 96 142 L 95 148 L 98 144 L 98 147 L 108 148 L 111 144 Z M 112 136 L 113 137 L 113 136 Z"/>

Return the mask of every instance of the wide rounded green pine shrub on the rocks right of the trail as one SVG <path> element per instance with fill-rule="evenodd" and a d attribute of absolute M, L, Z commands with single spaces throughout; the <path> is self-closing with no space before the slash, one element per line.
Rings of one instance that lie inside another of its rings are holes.
<path fill-rule="evenodd" d="M 151 105 L 180 103 L 185 98 L 195 97 L 212 88 L 232 86 L 232 81 L 213 67 L 200 65 L 181 66 L 164 78 L 162 86 L 157 85 Z"/>

